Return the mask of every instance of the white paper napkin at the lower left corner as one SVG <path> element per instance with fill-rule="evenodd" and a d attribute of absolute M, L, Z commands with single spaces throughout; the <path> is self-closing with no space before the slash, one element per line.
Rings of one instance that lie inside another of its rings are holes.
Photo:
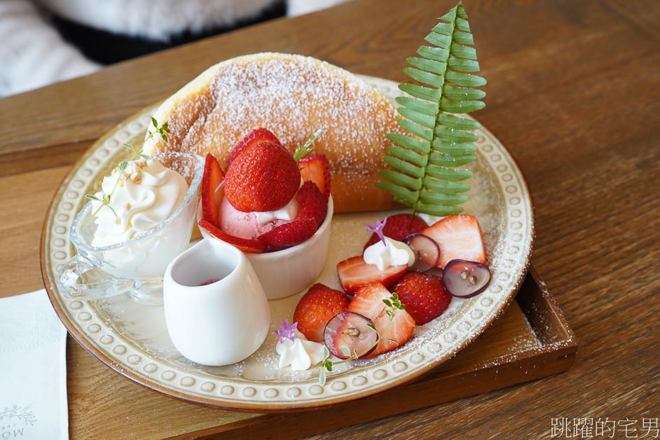
<path fill-rule="evenodd" d="M 46 290 L 0 298 L 0 439 L 68 439 L 67 330 Z"/>

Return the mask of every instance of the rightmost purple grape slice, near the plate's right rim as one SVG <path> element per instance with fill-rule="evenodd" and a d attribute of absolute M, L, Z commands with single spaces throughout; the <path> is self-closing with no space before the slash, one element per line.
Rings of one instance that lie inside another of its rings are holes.
<path fill-rule="evenodd" d="M 474 261 L 452 260 L 442 271 L 445 289 L 457 298 L 472 298 L 490 284 L 490 269 Z"/>

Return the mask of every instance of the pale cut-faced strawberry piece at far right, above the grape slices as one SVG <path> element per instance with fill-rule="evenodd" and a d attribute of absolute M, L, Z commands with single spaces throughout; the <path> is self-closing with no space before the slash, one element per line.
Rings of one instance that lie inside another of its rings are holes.
<path fill-rule="evenodd" d="M 436 268 L 444 268 L 451 260 L 461 259 L 486 263 L 486 246 L 479 221 L 469 214 L 454 214 L 437 221 L 421 232 L 440 247 Z"/>

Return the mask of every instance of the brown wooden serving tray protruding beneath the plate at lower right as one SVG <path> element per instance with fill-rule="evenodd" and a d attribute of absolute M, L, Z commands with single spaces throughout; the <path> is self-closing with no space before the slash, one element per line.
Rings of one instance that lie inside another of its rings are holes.
<path fill-rule="evenodd" d="M 223 418 L 221 425 L 179 438 L 256 438 L 267 432 L 269 438 L 289 439 L 317 434 L 560 373 L 572 366 L 576 352 L 575 334 L 532 266 L 516 301 L 490 329 L 413 383 L 312 411 Z M 364 410 L 369 407 L 378 411 Z"/>

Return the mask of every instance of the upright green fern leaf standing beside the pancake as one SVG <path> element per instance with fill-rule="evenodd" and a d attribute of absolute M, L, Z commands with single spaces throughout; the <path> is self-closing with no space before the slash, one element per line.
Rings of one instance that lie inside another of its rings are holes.
<path fill-rule="evenodd" d="M 456 114 L 483 109 L 486 92 L 479 87 L 486 79 L 476 74 L 474 37 L 460 2 L 424 40 L 418 56 L 408 57 L 410 67 L 404 68 L 417 83 L 399 85 L 408 95 L 397 98 L 403 116 L 399 125 L 408 135 L 387 135 L 396 145 L 387 149 L 383 161 L 390 169 L 380 171 L 385 180 L 376 186 L 413 212 L 446 216 L 462 212 L 460 205 L 467 200 L 462 193 L 469 185 L 462 181 L 472 171 L 464 166 L 476 159 L 473 142 L 478 137 L 472 131 L 481 126 Z"/>

